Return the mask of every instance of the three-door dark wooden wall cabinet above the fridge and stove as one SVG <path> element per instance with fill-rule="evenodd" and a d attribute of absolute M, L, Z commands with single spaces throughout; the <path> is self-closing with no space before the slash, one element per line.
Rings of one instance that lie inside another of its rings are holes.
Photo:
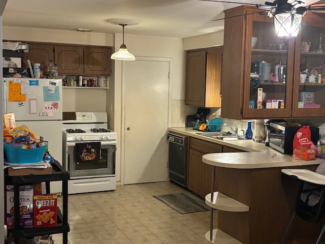
<path fill-rule="evenodd" d="M 24 60 L 40 63 L 41 69 L 46 71 L 52 59 L 59 74 L 110 76 L 111 52 L 111 47 L 29 43 Z"/>

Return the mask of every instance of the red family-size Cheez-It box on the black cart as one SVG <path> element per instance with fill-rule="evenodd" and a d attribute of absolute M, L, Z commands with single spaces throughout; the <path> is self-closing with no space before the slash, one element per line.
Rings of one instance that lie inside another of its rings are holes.
<path fill-rule="evenodd" d="M 53 227 L 56 225 L 56 194 L 34 196 L 34 227 Z"/>

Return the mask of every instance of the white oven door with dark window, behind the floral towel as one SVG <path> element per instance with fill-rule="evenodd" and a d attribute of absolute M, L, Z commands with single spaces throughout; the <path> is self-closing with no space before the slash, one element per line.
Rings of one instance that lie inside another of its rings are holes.
<path fill-rule="evenodd" d="M 115 176 L 116 141 L 101 141 L 99 160 L 82 161 L 76 154 L 76 143 L 67 142 L 67 166 L 71 178 Z M 82 141 L 85 145 L 93 141 Z"/>

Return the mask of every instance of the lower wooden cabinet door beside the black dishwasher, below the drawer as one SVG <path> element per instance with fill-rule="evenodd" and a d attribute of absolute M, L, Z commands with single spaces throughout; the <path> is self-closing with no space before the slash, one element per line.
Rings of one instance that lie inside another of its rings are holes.
<path fill-rule="evenodd" d="M 189 149 L 189 161 L 188 161 L 188 190 L 201 196 L 203 191 L 203 179 L 204 179 L 204 163 L 202 162 L 202 156 L 204 153 Z"/>

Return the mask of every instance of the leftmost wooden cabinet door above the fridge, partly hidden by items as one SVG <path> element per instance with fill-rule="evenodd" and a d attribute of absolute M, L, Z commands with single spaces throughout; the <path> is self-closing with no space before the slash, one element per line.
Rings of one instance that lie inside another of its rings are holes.
<path fill-rule="evenodd" d="M 29 59 L 30 62 L 41 64 L 41 70 L 46 71 L 49 61 L 54 61 L 54 46 L 51 44 L 31 43 L 28 52 L 24 52 L 23 59 L 24 61 Z"/>

